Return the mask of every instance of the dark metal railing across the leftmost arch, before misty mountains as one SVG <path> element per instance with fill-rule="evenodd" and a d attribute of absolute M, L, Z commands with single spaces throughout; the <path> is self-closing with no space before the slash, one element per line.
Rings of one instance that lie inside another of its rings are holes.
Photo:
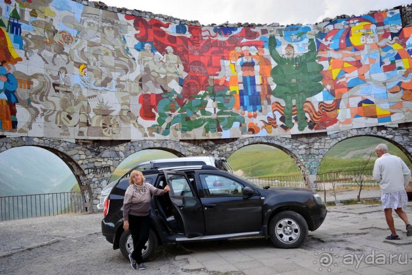
<path fill-rule="evenodd" d="M 81 192 L 0 197 L 0 221 L 83 212 Z"/>

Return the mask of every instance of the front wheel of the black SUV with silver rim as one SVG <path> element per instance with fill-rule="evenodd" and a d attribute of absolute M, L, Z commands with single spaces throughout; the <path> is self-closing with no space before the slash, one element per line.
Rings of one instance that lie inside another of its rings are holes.
<path fill-rule="evenodd" d="M 269 227 L 272 242 L 279 248 L 296 248 L 305 240 L 307 223 L 301 214 L 282 211 L 274 216 Z"/>

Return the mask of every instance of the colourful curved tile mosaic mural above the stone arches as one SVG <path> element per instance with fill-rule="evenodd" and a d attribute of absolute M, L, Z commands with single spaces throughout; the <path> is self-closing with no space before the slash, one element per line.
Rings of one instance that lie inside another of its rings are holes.
<path fill-rule="evenodd" d="M 0 16 L 0 135 L 211 139 L 412 121 L 412 28 L 397 9 L 234 28 L 70 0 L 0 0 Z"/>

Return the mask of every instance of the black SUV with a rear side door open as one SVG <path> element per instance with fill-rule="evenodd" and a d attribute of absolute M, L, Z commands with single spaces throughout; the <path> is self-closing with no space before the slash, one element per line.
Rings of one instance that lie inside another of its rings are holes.
<path fill-rule="evenodd" d="M 166 168 L 170 169 L 170 168 Z M 151 230 L 143 260 L 159 244 L 264 236 L 280 248 L 300 246 L 308 230 L 318 229 L 327 210 L 310 189 L 260 187 L 212 166 L 142 171 L 146 182 L 170 192 L 153 196 Z M 104 206 L 102 233 L 128 259 L 133 251 L 123 230 L 123 198 L 129 179 L 120 179 Z"/>

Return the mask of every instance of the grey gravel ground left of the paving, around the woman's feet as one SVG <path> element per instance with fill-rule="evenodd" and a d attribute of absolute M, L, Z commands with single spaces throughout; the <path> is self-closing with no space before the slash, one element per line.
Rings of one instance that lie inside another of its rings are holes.
<path fill-rule="evenodd" d="M 94 213 L 0 222 L 0 274 L 210 274 L 182 270 L 187 261 L 175 257 L 188 252 L 177 244 L 159 246 L 146 270 L 133 270 L 102 236 L 102 218 Z"/>

